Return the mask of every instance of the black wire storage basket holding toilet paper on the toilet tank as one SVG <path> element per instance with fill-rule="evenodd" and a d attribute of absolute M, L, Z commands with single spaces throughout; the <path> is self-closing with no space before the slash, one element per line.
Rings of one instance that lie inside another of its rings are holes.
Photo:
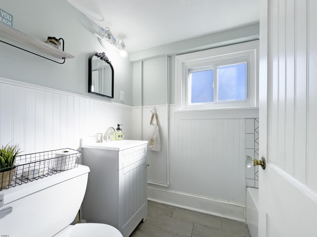
<path fill-rule="evenodd" d="M 69 148 L 16 156 L 8 178 L 0 173 L 0 191 L 78 167 L 81 152 Z"/>

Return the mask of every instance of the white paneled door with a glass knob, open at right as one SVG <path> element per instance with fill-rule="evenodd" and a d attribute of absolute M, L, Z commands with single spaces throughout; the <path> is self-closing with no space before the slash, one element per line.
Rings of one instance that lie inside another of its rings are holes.
<path fill-rule="evenodd" d="M 259 237 L 317 237 L 317 0 L 261 0 Z"/>

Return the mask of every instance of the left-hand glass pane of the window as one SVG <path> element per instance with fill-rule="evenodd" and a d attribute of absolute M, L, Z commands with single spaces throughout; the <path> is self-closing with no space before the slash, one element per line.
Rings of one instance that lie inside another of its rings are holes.
<path fill-rule="evenodd" d="M 191 72 L 191 103 L 213 101 L 213 70 Z"/>

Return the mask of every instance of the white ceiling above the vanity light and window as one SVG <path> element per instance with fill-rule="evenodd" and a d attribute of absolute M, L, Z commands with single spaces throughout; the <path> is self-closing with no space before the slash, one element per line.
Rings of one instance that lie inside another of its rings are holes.
<path fill-rule="evenodd" d="M 67 0 L 135 52 L 259 22 L 259 0 Z"/>

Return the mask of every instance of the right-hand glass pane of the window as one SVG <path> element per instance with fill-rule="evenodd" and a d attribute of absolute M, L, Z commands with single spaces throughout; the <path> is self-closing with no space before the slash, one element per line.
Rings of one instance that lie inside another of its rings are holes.
<path fill-rule="evenodd" d="M 246 99 L 246 63 L 217 68 L 218 101 Z"/>

